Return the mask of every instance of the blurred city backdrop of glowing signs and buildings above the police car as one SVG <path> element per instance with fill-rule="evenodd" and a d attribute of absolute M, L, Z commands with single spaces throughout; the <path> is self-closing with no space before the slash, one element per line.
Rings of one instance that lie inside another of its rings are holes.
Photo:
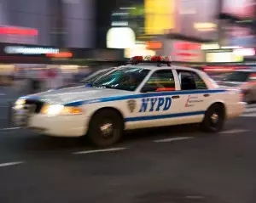
<path fill-rule="evenodd" d="M 1 93 L 58 87 L 134 55 L 171 55 L 221 80 L 255 65 L 255 3 L 0 0 Z"/>

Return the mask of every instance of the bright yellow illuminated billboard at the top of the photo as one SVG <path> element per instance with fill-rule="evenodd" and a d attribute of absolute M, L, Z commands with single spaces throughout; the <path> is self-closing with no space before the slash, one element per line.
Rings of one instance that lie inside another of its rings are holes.
<path fill-rule="evenodd" d="M 164 34 L 175 28 L 174 0 L 145 0 L 145 33 Z"/>

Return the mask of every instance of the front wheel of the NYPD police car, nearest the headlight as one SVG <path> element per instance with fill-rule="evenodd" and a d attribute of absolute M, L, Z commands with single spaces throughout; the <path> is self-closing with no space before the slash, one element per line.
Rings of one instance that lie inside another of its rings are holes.
<path fill-rule="evenodd" d="M 108 147 L 119 142 L 123 131 L 124 121 L 115 110 L 100 110 L 90 120 L 88 138 L 96 147 Z"/>

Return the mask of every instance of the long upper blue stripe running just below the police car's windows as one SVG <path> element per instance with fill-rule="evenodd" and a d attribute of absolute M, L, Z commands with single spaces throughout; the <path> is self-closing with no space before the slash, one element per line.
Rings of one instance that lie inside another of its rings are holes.
<path fill-rule="evenodd" d="M 79 106 L 83 104 L 95 104 L 95 103 L 103 103 L 103 102 L 111 102 L 111 101 L 119 101 L 126 99 L 140 99 L 140 98 L 150 98 L 150 97 L 159 97 L 159 96 L 171 96 L 171 95 L 180 95 L 180 94 L 197 94 L 197 93 L 224 93 L 226 90 L 219 89 L 211 89 L 211 90 L 192 90 L 192 91 L 175 91 L 175 92 L 161 92 L 161 93 L 141 93 L 141 94 L 133 94 L 133 95 L 124 95 L 124 96 L 114 96 L 108 98 L 101 99 L 88 99 L 75 101 L 71 103 L 65 104 L 66 106 Z"/>

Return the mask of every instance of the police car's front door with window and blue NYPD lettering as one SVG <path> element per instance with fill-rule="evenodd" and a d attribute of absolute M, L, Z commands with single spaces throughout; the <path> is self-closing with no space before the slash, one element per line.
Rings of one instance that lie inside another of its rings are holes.
<path fill-rule="evenodd" d="M 172 69 L 155 70 L 137 99 L 138 108 L 132 126 L 137 128 L 177 124 L 180 95 L 176 89 Z"/>

